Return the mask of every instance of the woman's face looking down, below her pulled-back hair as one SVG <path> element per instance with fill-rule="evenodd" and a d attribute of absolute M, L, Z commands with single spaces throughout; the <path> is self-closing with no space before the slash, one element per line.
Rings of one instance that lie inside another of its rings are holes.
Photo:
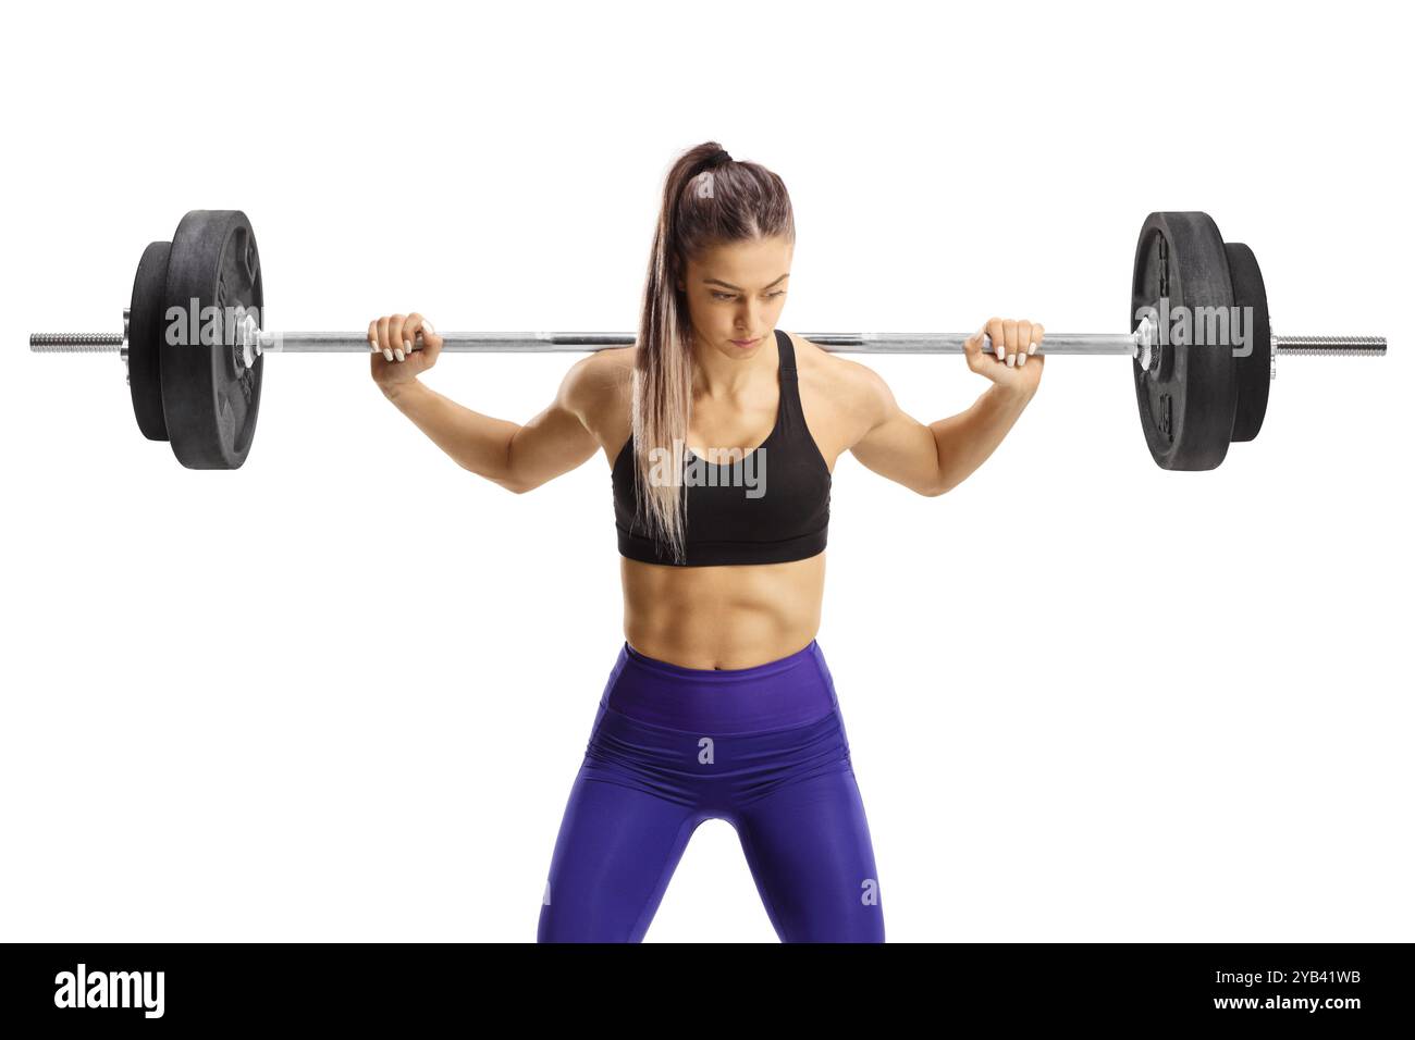
<path fill-rule="evenodd" d="M 761 349 L 787 301 L 792 249 L 784 238 L 758 238 L 713 246 L 688 260 L 678 287 L 699 347 L 729 358 Z"/>

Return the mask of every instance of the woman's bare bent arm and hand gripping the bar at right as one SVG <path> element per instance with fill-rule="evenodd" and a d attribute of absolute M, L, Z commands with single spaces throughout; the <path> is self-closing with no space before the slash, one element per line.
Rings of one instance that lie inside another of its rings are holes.
<path fill-rule="evenodd" d="M 983 333 L 993 352 L 983 352 Z M 1036 349 L 1044 334 L 1032 321 L 989 318 L 964 354 L 968 368 L 992 386 L 966 412 L 928 426 L 900 409 L 884 381 L 865 369 L 872 376 L 866 395 L 872 422 L 850 451 L 866 468 L 921 495 L 952 491 L 988 460 L 1036 395 L 1044 366 Z"/>

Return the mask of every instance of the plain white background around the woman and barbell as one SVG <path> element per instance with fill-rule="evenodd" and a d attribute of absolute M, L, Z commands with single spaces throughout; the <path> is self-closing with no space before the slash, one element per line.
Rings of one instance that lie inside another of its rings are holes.
<path fill-rule="evenodd" d="M 1380 6 L 6 8 L 0 938 L 535 938 L 623 641 L 601 456 L 516 497 L 362 357 L 269 358 L 233 473 L 133 422 L 147 242 L 239 208 L 267 327 L 637 324 L 662 177 L 780 173 L 792 331 L 1125 331 L 1153 209 L 1262 263 L 1259 439 L 1166 473 L 1053 358 L 964 485 L 843 457 L 819 642 L 890 941 L 1415 938 L 1408 33 Z M 427 376 L 525 422 L 574 354 Z M 921 422 L 961 358 L 857 358 Z M 648 941 L 774 942 L 705 824 Z"/>

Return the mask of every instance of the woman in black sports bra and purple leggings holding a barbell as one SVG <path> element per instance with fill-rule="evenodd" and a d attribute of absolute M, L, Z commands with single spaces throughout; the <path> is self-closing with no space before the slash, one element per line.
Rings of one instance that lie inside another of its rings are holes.
<path fill-rule="evenodd" d="M 737 831 L 782 941 L 884 940 L 815 640 L 831 475 L 853 451 L 923 495 L 957 487 L 1036 393 L 1043 357 L 1027 358 L 1043 328 L 989 320 L 966 358 L 992 386 L 924 426 L 865 365 L 777 328 L 794 243 L 780 177 L 716 141 L 681 156 L 638 342 L 576 362 L 525 426 L 417 381 L 441 348 L 426 317 L 369 323 L 374 379 L 466 468 L 524 492 L 604 451 L 613 475 L 625 642 L 560 824 L 542 942 L 642 940 L 688 839 L 715 818 Z"/>

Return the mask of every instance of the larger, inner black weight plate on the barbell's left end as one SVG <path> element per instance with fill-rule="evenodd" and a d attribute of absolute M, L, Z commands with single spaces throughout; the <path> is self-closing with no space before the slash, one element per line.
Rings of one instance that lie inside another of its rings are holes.
<path fill-rule="evenodd" d="M 173 454 L 192 470 L 235 470 L 250 450 L 265 371 L 263 357 L 245 366 L 232 320 L 238 304 L 265 310 L 260 253 L 243 212 L 192 209 L 183 216 L 167 258 L 166 299 L 185 316 L 175 327 L 164 324 L 161 341 Z"/>

